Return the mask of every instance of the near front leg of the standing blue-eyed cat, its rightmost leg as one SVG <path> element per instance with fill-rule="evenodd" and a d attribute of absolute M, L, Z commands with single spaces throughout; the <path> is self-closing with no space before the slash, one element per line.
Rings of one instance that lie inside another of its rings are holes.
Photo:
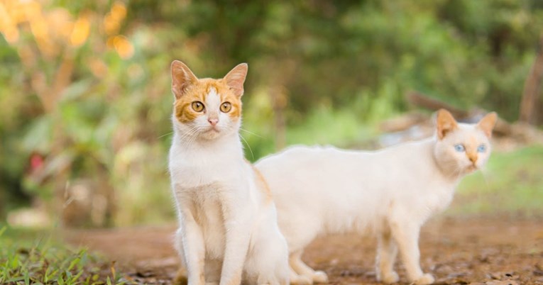
<path fill-rule="evenodd" d="M 432 274 L 424 274 L 420 268 L 419 232 L 420 225 L 409 220 L 407 215 L 390 220 L 390 230 L 400 247 L 400 254 L 410 282 L 417 285 L 434 283 Z"/>

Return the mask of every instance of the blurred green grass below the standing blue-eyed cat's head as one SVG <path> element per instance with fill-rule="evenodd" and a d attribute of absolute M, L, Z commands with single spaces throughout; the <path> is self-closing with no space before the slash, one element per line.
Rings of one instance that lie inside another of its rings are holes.
<path fill-rule="evenodd" d="M 482 172 L 459 185 L 449 213 L 543 214 L 543 146 L 494 152 Z"/>

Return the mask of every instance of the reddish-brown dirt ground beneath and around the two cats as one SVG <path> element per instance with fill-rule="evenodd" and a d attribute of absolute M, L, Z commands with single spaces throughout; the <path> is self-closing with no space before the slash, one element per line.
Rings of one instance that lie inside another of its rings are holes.
<path fill-rule="evenodd" d="M 178 266 L 174 230 L 70 230 L 65 239 L 115 260 L 127 279 L 171 284 Z M 422 269 L 436 284 L 543 284 L 541 218 L 438 218 L 422 228 L 419 245 Z M 304 255 L 309 266 L 327 272 L 330 284 L 379 284 L 374 259 L 375 240 L 359 235 L 319 238 Z M 396 269 L 406 284 L 401 262 Z"/>

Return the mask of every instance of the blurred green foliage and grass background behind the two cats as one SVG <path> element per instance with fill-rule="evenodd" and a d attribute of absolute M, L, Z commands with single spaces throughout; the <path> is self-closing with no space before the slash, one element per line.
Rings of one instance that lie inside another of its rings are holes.
<path fill-rule="evenodd" d="M 246 157 L 297 144 L 374 149 L 449 108 L 502 121 L 449 213 L 543 203 L 538 0 L 0 0 L 0 221 L 170 223 L 170 62 L 240 62 Z"/>

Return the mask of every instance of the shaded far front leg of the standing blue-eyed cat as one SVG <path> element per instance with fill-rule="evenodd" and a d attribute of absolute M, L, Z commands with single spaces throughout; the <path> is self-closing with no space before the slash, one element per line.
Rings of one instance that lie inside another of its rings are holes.
<path fill-rule="evenodd" d="M 397 255 L 397 246 L 386 229 L 379 233 L 377 237 L 377 257 L 375 258 L 375 272 L 377 272 L 377 281 L 385 284 L 396 283 L 400 277 L 394 271 L 394 262 Z"/>

